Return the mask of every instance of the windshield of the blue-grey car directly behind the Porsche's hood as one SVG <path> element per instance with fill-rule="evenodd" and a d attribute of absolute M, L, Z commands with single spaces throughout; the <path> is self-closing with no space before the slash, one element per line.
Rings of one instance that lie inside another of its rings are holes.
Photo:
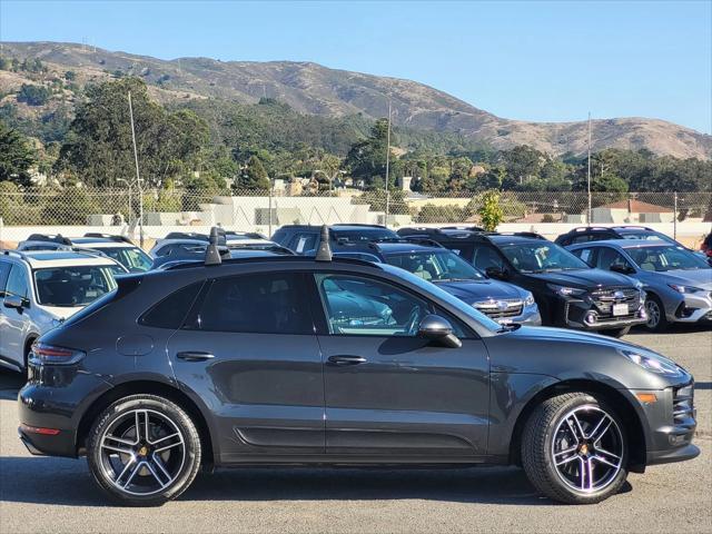
<path fill-rule="evenodd" d="M 428 281 L 484 280 L 467 261 L 449 250 L 389 254 L 386 261 Z"/>

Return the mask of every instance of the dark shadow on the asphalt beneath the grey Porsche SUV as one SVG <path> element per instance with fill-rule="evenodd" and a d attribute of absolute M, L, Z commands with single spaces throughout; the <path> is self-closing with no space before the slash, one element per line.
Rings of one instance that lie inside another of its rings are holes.
<path fill-rule="evenodd" d="M 0 501 L 111 506 L 82 459 L 0 457 Z M 625 490 L 624 490 L 625 491 Z M 239 468 L 201 474 L 179 501 L 427 500 L 558 506 L 514 467 L 452 469 Z"/>

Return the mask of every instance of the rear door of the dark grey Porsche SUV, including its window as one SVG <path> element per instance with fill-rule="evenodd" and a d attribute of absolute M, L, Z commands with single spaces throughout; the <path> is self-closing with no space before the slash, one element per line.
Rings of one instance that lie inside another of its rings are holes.
<path fill-rule="evenodd" d="M 168 342 L 176 378 L 215 414 L 222 462 L 324 453 L 324 378 L 304 276 L 209 280 Z"/>

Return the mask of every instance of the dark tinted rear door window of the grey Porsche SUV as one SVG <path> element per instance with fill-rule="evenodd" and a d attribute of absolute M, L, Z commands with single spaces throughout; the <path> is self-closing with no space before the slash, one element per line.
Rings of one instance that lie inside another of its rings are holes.
<path fill-rule="evenodd" d="M 313 334 L 303 276 L 270 273 L 218 278 L 188 328 L 254 334 Z"/>

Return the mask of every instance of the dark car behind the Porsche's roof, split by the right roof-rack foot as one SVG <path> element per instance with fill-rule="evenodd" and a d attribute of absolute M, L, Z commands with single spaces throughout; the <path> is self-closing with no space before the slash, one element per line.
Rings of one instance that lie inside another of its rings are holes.
<path fill-rule="evenodd" d="M 271 240 L 296 254 L 313 256 L 319 248 L 320 235 L 320 226 L 285 225 L 275 231 Z M 332 225 L 329 236 L 329 246 L 334 251 L 348 251 L 368 243 L 399 239 L 395 231 L 379 225 Z"/>

